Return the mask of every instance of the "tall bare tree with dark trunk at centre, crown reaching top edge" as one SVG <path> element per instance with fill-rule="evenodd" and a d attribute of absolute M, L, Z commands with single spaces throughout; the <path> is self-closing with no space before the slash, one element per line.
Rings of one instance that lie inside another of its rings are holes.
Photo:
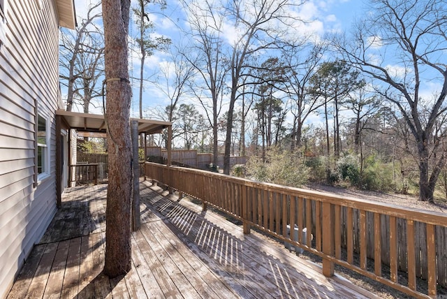
<path fill-rule="evenodd" d="M 291 24 L 300 22 L 289 13 L 293 6 L 300 5 L 300 1 L 292 3 L 288 0 L 253 0 L 230 1 L 226 3 L 228 22 L 232 22 L 235 37 L 230 42 L 229 64 L 230 71 L 230 99 L 226 126 L 225 152 L 223 156 L 223 173 L 230 173 L 230 149 L 233 129 L 233 110 L 235 102 L 242 96 L 241 87 L 244 80 L 246 65 L 249 57 L 261 51 L 277 50 L 281 42 L 291 34 L 287 29 Z M 247 71 L 249 73 L 249 71 Z"/>

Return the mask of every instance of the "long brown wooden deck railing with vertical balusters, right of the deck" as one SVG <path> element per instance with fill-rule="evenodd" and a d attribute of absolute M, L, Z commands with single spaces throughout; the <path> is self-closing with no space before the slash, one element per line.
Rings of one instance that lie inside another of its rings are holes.
<path fill-rule="evenodd" d="M 244 233 L 256 227 L 321 256 L 328 277 L 337 263 L 418 298 L 447 286 L 445 214 L 156 163 L 145 174 L 242 220 Z M 307 228 L 305 240 L 288 225 Z"/>

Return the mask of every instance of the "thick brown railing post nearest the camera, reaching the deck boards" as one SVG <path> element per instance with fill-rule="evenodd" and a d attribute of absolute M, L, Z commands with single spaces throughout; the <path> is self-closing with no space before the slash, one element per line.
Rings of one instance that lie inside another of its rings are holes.
<path fill-rule="evenodd" d="M 323 253 L 328 256 L 332 256 L 334 251 L 332 232 L 332 209 L 330 203 L 323 202 Z M 323 258 L 323 275 L 325 277 L 334 275 L 334 262 L 327 258 Z"/>

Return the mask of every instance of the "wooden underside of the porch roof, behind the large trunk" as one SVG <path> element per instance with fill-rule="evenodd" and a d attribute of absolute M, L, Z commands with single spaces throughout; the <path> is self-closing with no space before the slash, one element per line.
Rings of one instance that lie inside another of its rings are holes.
<path fill-rule="evenodd" d="M 105 133 L 107 129 L 104 115 L 71 112 L 65 110 L 56 110 L 56 115 L 60 115 L 70 129 L 100 133 Z M 161 122 L 152 119 L 132 118 L 132 120 L 138 120 L 138 133 L 161 133 L 163 129 L 173 125 L 172 122 Z"/>

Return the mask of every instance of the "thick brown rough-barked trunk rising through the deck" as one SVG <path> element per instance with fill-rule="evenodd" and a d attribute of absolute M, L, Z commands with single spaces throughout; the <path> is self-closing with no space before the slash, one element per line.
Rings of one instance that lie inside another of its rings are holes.
<path fill-rule="evenodd" d="M 130 0 L 102 2 L 109 168 L 104 273 L 109 277 L 131 270 L 131 86 L 127 61 L 130 3 Z"/>

